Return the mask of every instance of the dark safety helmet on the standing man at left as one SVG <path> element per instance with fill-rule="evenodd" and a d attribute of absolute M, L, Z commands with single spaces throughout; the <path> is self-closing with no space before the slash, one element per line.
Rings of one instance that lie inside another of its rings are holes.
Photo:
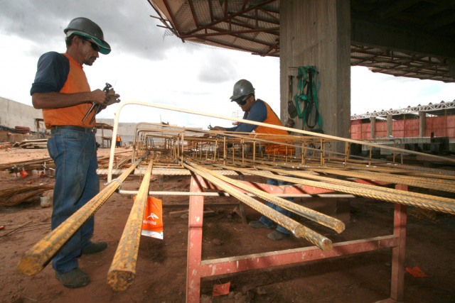
<path fill-rule="evenodd" d="M 105 41 L 105 36 L 103 35 L 100 26 L 88 18 L 74 18 L 63 32 L 67 37 L 75 33 L 76 35 L 82 35 L 85 38 L 92 39 L 100 46 L 100 53 L 103 55 L 107 55 L 111 52 L 111 46 Z"/>

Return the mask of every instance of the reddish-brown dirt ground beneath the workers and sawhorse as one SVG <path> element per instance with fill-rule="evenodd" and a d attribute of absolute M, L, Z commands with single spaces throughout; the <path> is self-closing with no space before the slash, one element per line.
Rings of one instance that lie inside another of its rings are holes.
<path fill-rule="evenodd" d="M 108 149 L 100 155 L 108 155 Z M 45 158 L 45 149 L 0 149 L 0 163 Z M 1 173 L 0 189 L 18 185 L 53 184 L 50 176 L 38 177 Z M 101 180 L 101 188 L 105 180 Z M 139 189 L 139 177 L 128 177 L 123 189 Z M 165 191 L 189 189 L 189 177 L 164 178 Z M 151 190 L 159 190 L 159 180 L 151 180 Z M 107 285 L 107 271 L 132 207 L 132 196 L 114 193 L 95 214 L 93 241 L 107 241 L 104 253 L 84 255 L 79 266 L 90 275 L 86 287 L 70 290 L 54 277 L 50 265 L 32 277 L 16 273 L 21 255 L 50 231 L 52 209 L 42 208 L 39 197 L 16 206 L 0 206 L 0 302 L 185 302 L 188 219 L 171 218 L 169 212 L 186 209 L 188 197 L 166 196 L 164 240 L 141 236 L 137 275 L 132 287 L 114 292 Z M 299 238 L 274 242 L 269 230 L 254 230 L 242 223 L 231 206 L 234 198 L 208 198 L 215 216 L 203 221 L 202 258 L 223 258 L 249 253 L 310 246 Z M 213 205 L 215 204 L 215 205 Z M 259 214 L 245 206 L 249 221 Z M 353 199 L 346 231 L 337 234 L 304 219 L 297 219 L 323 233 L 334 243 L 392 233 L 393 204 L 369 199 Z M 428 277 L 405 272 L 405 302 L 455 302 L 455 216 L 421 213 L 408 207 L 405 266 L 417 266 Z M 390 249 L 339 258 L 301 263 L 298 266 L 267 268 L 235 275 L 204 279 L 201 302 L 377 302 L 390 297 Z M 230 282 L 230 295 L 212 297 L 213 286 Z"/>

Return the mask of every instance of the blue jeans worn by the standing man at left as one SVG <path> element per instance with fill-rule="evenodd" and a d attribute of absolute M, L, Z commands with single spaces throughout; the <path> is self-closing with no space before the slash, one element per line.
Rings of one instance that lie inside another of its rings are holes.
<path fill-rule="evenodd" d="M 72 129 L 51 131 L 48 140 L 50 157 L 55 163 L 55 187 L 51 228 L 80 209 L 100 192 L 97 175 L 97 146 L 95 134 Z M 77 268 L 77 257 L 92 243 L 94 220 L 90 218 L 55 255 L 52 267 L 62 274 Z"/>

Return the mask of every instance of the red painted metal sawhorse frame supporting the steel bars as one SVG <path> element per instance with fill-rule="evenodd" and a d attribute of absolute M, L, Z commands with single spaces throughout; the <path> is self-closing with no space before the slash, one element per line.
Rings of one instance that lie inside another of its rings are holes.
<path fill-rule="evenodd" d="M 257 184 L 256 184 L 257 185 Z M 203 192 L 203 188 L 214 188 L 213 184 L 200 176 L 191 177 L 191 192 Z M 396 185 L 397 189 L 407 190 L 405 185 Z M 267 185 L 263 189 L 267 192 L 282 192 L 279 187 Z M 286 187 L 286 194 L 321 194 L 325 189 L 306 186 Z M 355 241 L 334 243 L 331 251 L 323 251 L 316 246 L 294 248 L 258 253 L 252 255 L 239 255 L 229 258 L 201 260 L 202 253 L 202 224 L 203 224 L 203 196 L 191 196 L 188 218 L 188 258 L 186 272 L 186 302 L 198 303 L 200 301 L 200 279 L 218 275 L 242 272 L 245 270 L 258 270 L 279 265 L 289 265 L 312 260 L 363 253 L 382 248 L 392 248 L 392 279 L 390 298 L 381 303 L 400 302 L 404 295 L 405 282 L 405 244 L 406 244 L 406 206 L 395 204 L 394 229 L 389 236 L 365 238 Z"/>

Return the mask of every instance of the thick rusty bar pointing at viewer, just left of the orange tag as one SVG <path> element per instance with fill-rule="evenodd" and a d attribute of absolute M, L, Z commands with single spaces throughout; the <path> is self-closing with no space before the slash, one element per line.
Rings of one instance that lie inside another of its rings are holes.
<path fill-rule="evenodd" d="M 115 251 L 109 272 L 107 272 L 107 284 L 115 292 L 127 290 L 136 277 L 137 253 L 141 240 L 142 222 L 144 221 L 144 209 L 147 202 L 151 169 L 154 161 L 150 160 L 144 175 L 144 180 L 139 187 L 139 193 L 129 213 L 127 224 L 120 238 L 119 246 Z"/>

